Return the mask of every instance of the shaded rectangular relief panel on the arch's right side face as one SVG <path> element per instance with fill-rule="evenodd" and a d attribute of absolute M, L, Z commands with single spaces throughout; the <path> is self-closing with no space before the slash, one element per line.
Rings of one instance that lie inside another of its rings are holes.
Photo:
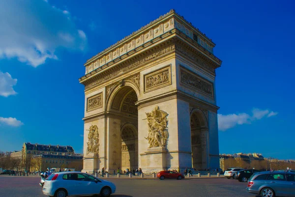
<path fill-rule="evenodd" d="M 213 84 L 199 75 L 179 66 L 180 68 L 180 84 L 186 86 L 194 91 L 206 95 L 207 97 L 214 98 Z"/>

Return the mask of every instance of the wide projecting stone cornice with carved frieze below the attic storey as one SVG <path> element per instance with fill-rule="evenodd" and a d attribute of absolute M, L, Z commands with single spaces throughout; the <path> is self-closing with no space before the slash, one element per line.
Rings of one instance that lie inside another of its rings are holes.
<path fill-rule="evenodd" d="M 149 47 L 148 50 L 137 54 L 136 57 L 123 56 L 118 60 L 118 63 L 112 63 L 110 66 L 103 66 L 86 76 L 79 79 L 81 84 L 85 85 L 85 90 L 88 90 L 94 86 L 105 83 L 115 77 L 118 77 L 126 72 L 132 71 L 139 68 L 151 61 L 156 60 L 164 55 L 176 52 L 177 54 L 194 61 L 202 68 L 206 69 L 213 75 L 215 75 L 215 68 L 220 67 L 221 60 L 219 60 L 214 55 L 207 56 L 203 53 L 203 50 L 198 45 L 191 46 L 192 43 L 186 43 L 185 38 L 181 36 L 173 36 L 174 32 L 177 33 L 178 30 L 167 32 L 168 40 L 165 40 L 161 44 L 153 43 L 155 46 Z M 180 34 L 180 32 L 178 32 Z M 176 35 L 178 35 L 176 34 Z M 158 38 L 158 40 L 164 38 Z M 150 46 L 150 45 L 149 45 Z M 143 50 L 144 48 L 142 48 Z M 135 52 L 133 52 L 135 53 Z"/>

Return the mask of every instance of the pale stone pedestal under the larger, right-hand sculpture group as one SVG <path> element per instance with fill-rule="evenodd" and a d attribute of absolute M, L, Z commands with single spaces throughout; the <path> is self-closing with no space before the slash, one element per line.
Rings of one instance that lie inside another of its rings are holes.
<path fill-rule="evenodd" d="M 163 169 L 167 169 L 167 154 L 166 147 L 148 148 L 148 150 L 141 154 L 142 169 L 144 172 L 153 173 Z"/>

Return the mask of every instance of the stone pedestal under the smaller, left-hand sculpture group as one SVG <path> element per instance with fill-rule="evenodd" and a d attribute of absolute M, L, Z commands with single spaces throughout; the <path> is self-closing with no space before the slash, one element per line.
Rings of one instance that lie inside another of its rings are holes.
<path fill-rule="evenodd" d="M 99 169 L 99 157 L 97 153 L 86 155 L 83 158 L 82 172 L 95 173 Z"/>

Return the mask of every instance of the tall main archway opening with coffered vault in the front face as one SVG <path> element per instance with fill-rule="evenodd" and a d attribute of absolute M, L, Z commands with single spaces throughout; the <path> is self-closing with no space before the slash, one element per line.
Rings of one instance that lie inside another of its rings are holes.
<path fill-rule="evenodd" d="M 135 90 L 130 86 L 119 87 L 112 99 L 110 111 L 120 119 L 120 169 L 138 168 L 138 101 Z"/>

